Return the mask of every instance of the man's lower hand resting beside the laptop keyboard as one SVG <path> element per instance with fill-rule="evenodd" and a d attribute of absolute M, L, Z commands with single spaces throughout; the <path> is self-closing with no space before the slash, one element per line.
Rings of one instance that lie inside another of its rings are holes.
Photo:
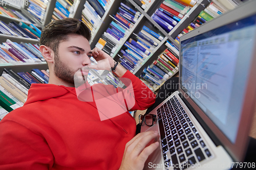
<path fill-rule="evenodd" d="M 159 142 L 157 141 L 146 147 L 148 142 L 156 137 L 158 137 L 157 132 L 148 131 L 139 133 L 127 142 L 119 170 L 142 170 L 148 156 L 159 146 Z"/>

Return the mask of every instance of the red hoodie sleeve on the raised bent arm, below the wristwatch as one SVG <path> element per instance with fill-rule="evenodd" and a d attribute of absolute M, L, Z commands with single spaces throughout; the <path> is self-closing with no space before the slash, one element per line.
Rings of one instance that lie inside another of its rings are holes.
<path fill-rule="evenodd" d="M 126 107 L 129 111 L 144 110 L 155 103 L 156 95 L 129 70 L 125 72 L 120 80 L 126 88 L 118 87 L 117 91 L 122 91 Z"/>

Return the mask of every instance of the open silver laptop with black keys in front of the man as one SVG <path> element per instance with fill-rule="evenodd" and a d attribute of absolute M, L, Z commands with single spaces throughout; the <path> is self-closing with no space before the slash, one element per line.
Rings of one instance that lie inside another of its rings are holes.
<path fill-rule="evenodd" d="M 180 37 L 179 90 L 150 112 L 144 169 L 230 169 L 247 150 L 256 90 L 256 1 Z"/>

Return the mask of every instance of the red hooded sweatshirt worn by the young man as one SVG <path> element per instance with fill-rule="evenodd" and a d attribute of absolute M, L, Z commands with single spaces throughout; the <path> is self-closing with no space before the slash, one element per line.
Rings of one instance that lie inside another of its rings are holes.
<path fill-rule="evenodd" d="M 137 77 L 127 71 L 123 78 L 134 87 L 130 110 L 153 105 L 155 95 Z M 112 85 L 94 88 L 102 89 L 93 90 L 98 99 L 109 95 L 122 101 L 112 95 L 117 90 Z M 73 87 L 32 84 L 25 105 L 0 122 L 0 169 L 118 169 L 125 144 L 135 135 L 135 119 L 125 112 L 101 121 L 95 101 L 79 101 L 75 94 Z M 119 94 L 126 101 L 132 95 L 127 89 Z"/>

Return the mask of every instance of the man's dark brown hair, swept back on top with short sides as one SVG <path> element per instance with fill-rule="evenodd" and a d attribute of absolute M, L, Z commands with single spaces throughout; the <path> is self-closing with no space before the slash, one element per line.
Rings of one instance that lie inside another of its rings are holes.
<path fill-rule="evenodd" d="M 64 18 L 50 22 L 41 33 L 40 45 L 50 47 L 55 53 L 61 41 L 68 39 L 68 35 L 78 34 L 91 39 L 91 31 L 81 20 L 75 18 Z"/>

